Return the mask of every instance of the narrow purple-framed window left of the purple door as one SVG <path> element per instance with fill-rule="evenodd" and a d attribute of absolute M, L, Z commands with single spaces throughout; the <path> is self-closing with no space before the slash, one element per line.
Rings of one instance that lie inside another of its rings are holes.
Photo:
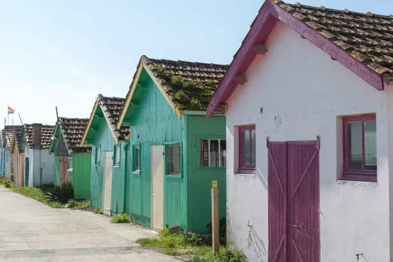
<path fill-rule="evenodd" d="M 239 173 L 255 173 L 255 125 L 239 127 Z"/>

